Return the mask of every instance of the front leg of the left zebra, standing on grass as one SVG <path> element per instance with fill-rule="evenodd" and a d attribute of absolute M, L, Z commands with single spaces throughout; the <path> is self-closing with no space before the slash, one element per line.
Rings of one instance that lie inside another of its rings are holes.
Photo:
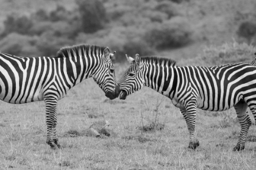
<path fill-rule="evenodd" d="M 52 149 L 58 149 L 58 138 L 55 134 L 54 124 L 57 122 L 56 106 L 57 100 L 52 97 L 44 98 L 46 106 L 46 126 L 47 126 L 47 138 L 46 143 L 51 146 Z M 56 126 L 56 125 L 55 125 Z"/>

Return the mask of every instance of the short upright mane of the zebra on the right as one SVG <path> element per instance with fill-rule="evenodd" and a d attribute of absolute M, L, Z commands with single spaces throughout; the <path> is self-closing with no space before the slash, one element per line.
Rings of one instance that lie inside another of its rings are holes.
<path fill-rule="evenodd" d="M 164 57 L 158 57 L 158 56 L 141 56 L 142 61 L 146 61 L 149 63 L 156 63 L 156 64 L 168 64 L 168 66 L 175 67 L 177 66 L 176 61 L 172 60 L 171 58 L 164 58 Z"/>

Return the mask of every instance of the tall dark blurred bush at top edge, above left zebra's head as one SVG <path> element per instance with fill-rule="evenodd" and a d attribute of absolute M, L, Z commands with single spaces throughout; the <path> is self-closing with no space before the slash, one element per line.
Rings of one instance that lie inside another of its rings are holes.
<path fill-rule="evenodd" d="M 80 13 L 81 31 L 94 33 L 103 28 L 106 18 L 104 5 L 99 0 L 76 0 Z"/>

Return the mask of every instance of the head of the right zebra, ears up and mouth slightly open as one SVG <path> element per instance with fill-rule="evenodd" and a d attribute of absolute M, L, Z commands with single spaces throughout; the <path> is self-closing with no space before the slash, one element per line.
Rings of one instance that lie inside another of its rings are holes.
<path fill-rule="evenodd" d="M 119 98 L 121 100 L 125 100 L 127 95 L 140 90 L 144 86 L 143 64 L 140 55 L 135 55 L 135 59 L 126 55 L 126 58 L 131 66 L 118 81 Z"/>

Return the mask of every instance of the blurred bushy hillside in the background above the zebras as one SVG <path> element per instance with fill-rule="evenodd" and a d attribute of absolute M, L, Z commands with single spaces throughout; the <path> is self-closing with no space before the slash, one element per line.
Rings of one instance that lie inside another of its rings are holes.
<path fill-rule="evenodd" d="M 204 46 L 255 45 L 256 2 L 247 0 L 1 0 L 1 52 L 54 56 L 88 43 L 124 54 L 194 58 Z"/>

